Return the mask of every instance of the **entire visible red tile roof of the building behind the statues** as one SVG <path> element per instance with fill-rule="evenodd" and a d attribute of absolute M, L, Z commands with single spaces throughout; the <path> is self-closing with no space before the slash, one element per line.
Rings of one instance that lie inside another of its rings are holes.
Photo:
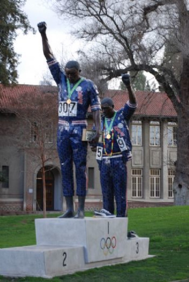
<path fill-rule="evenodd" d="M 20 85 L 5 87 L 0 84 L 0 109 L 13 110 L 15 99 L 21 98 L 26 93 L 31 95 L 41 95 L 44 92 L 58 93 L 56 86 L 43 85 Z M 177 113 L 173 104 L 164 92 L 135 91 L 138 108 L 135 116 L 162 116 L 176 117 Z M 115 109 L 124 106 L 128 100 L 128 92 L 125 90 L 107 90 L 105 97 L 111 97 L 114 101 Z"/>

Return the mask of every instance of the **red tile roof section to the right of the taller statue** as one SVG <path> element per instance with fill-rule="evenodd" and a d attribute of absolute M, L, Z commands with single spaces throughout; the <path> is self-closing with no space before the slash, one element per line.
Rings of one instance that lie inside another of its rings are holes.
<path fill-rule="evenodd" d="M 137 99 L 136 116 L 161 116 L 176 117 L 177 113 L 173 104 L 164 92 L 135 91 Z M 114 101 L 115 109 L 118 110 L 128 101 L 128 92 L 124 90 L 107 90 L 106 97 Z"/>

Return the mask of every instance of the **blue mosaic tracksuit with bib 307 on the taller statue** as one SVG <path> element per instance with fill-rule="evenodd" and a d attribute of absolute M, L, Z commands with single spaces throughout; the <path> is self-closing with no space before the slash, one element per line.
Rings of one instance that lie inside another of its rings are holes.
<path fill-rule="evenodd" d="M 55 59 L 47 60 L 51 74 L 58 85 L 58 132 L 57 148 L 61 164 L 62 187 L 64 196 L 74 195 L 73 162 L 76 168 L 76 195 L 86 195 L 86 156 L 87 142 L 81 141 L 82 129 L 86 128 L 86 113 L 101 110 L 98 91 L 93 82 L 83 79 L 71 95 L 67 104 L 67 79 Z M 73 85 L 70 84 L 73 88 Z"/>

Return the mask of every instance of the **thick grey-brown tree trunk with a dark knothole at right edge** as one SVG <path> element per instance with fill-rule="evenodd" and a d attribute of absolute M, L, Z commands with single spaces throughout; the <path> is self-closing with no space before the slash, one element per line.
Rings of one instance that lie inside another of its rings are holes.
<path fill-rule="evenodd" d="M 183 59 L 181 108 L 178 112 L 176 176 L 173 182 L 175 205 L 189 205 L 189 58 Z"/>

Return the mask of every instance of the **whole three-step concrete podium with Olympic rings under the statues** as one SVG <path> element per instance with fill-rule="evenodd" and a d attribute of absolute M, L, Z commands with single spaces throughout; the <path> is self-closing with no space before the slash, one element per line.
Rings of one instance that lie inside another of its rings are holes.
<path fill-rule="evenodd" d="M 149 238 L 127 238 L 128 218 L 35 219 L 36 245 L 0 249 L 0 274 L 51 278 L 152 257 Z"/>

